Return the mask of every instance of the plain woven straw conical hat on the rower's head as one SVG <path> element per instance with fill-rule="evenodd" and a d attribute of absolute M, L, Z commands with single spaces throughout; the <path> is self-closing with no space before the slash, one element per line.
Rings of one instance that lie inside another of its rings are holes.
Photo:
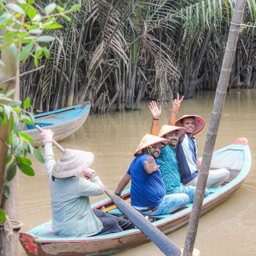
<path fill-rule="evenodd" d="M 93 162 L 92 152 L 65 149 L 53 166 L 53 176 L 68 178 L 86 170 Z"/>

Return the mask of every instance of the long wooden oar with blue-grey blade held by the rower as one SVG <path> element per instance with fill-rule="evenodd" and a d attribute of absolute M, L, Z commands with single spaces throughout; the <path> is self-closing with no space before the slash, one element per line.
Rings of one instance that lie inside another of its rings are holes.
<path fill-rule="evenodd" d="M 42 132 L 43 130 L 39 126 L 35 126 L 37 130 Z M 64 151 L 63 147 L 59 145 L 55 140 L 53 145 L 55 145 L 60 151 Z M 142 214 L 140 214 L 135 208 L 133 208 L 129 203 L 125 202 L 123 199 L 116 196 L 108 188 L 104 186 L 105 193 L 112 199 L 116 204 L 117 208 L 126 215 L 126 217 L 144 233 L 146 237 L 150 239 L 165 255 L 167 256 L 180 256 L 181 251 L 178 246 L 174 244 L 168 237 L 166 237 L 157 227 L 155 227 L 151 222 L 149 222 Z"/>

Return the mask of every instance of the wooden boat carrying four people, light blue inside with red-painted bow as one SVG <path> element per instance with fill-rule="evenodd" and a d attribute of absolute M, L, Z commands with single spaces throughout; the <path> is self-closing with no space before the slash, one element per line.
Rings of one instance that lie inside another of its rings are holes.
<path fill-rule="evenodd" d="M 209 196 L 203 200 L 201 216 L 227 201 L 246 179 L 251 168 L 251 152 L 245 138 L 213 153 L 211 169 L 227 168 L 230 177 L 219 188 L 209 188 Z M 123 191 L 124 199 L 129 199 L 130 189 Z M 111 214 L 121 212 L 110 198 L 92 204 L 92 208 L 103 209 Z M 150 221 L 164 234 L 169 234 L 188 224 L 192 208 L 189 203 L 175 213 L 150 216 Z M 52 233 L 51 222 L 46 222 L 28 232 L 20 232 L 19 240 L 27 255 L 111 255 L 139 246 L 149 239 L 139 229 L 93 237 L 60 237 Z"/>

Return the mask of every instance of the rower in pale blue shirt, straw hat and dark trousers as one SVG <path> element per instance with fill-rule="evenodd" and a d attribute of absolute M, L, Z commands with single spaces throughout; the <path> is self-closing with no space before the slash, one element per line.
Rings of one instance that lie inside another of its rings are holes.
<path fill-rule="evenodd" d="M 41 136 L 51 190 L 53 234 L 62 237 L 89 237 L 135 227 L 129 220 L 97 209 L 92 210 L 89 196 L 104 193 L 101 180 L 96 172 L 89 168 L 94 159 L 92 152 L 66 149 L 55 162 L 53 132 L 43 130 Z M 86 179 L 76 176 L 81 172 Z"/>

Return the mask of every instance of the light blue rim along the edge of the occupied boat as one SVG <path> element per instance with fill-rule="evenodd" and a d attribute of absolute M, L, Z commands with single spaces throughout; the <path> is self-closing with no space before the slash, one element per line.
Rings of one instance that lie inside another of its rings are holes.
<path fill-rule="evenodd" d="M 232 145 L 228 145 L 220 150 L 216 150 L 214 151 L 214 155 L 218 154 L 222 151 L 225 151 L 227 149 L 231 149 L 232 146 L 234 146 L 235 144 Z M 237 175 L 237 177 L 235 177 L 232 181 L 230 181 L 228 184 L 226 184 L 225 186 L 223 186 L 222 188 L 219 189 L 219 191 L 216 191 L 212 194 L 209 194 L 209 196 L 207 198 L 204 198 L 203 200 L 203 207 L 202 207 L 202 212 L 200 214 L 200 216 L 208 213 L 209 211 L 211 211 L 212 209 L 216 208 L 216 204 L 221 204 L 224 203 L 225 201 L 227 201 L 228 198 L 230 198 L 237 190 L 238 188 L 240 188 L 240 186 L 242 185 L 242 182 L 246 179 L 250 168 L 251 168 L 251 152 L 250 152 L 250 148 L 249 145 L 235 145 L 236 147 L 240 147 L 241 151 L 244 152 L 244 165 L 240 171 L 240 173 Z M 127 191 L 129 190 L 126 189 L 123 191 L 122 194 L 127 194 Z M 105 201 L 106 203 L 102 203 L 102 201 Z M 106 205 L 108 202 L 111 202 L 110 198 L 105 198 L 102 199 L 101 201 L 92 204 L 92 206 L 95 206 L 98 204 L 98 208 L 100 208 L 102 205 Z M 213 203 L 216 202 L 216 203 Z M 101 204 L 99 204 L 101 203 Z M 213 203 L 213 204 L 211 204 Z M 208 207 L 210 206 L 210 207 Z M 96 208 L 96 207 L 94 207 Z M 162 219 L 159 219 L 155 222 L 153 222 L 152 224 L 155 225 L 156 227 L 160 228 L 164 227 L 164 225 L 168 224 L 168 223 L 172 223 L 175 222 L 179 219 L 185 219 L 185 222 L 180 223 L 180 225 L 185 226 L 186 223 L 188 222 L 188 218 L 190 216 L 191 213 L 191 209 L 192 209 L 192 205 L 190 205 L 187 208 L 184 208 L 182 210 L 179 211 L 179 214 L 171 214 L 168 217 L 164 217 Z M 39 228 L 41 226 L 45 226 L 47 225 L 48 222 L 41 224 L 40 226 L 37 226 L 35 228 Z M 50 223 L 50 222 L 49 222 Z M 34 229 L 35 229 L 34 228 Z M 179 227 L 180 228 L 180 227 Z M 178 229 L 178 228 L 176 228 Z M 172 230 L 171 232 L 174 232 L 175 227 L 170 227 L 169 230 Z M 31 229 L 30 231 L 32 231 L 33 229 Z M 162 232 L 168 232 L 168 230 L 163 230 Z M 110 241 L 110 240 L 115 240 L 115 239 L 120 239 L 122 237 L 129 237 L 129 236 L 135 236 L 136 234 L 140 234 L 141 231 L 139 229 L 131 229 L 131 230 L 127 230 L 127 231 L 123 231 L 123 232 L 119 232 L 119 233 L 113 233 L 113 234 L 106 234 L 106 235 L 101 235 L 101 236 L 95 236 L 95 237 L 72 237 L 71 239 L 67 239 L 67 237 L 63 237 L 63 238 L 42 238 L 42 237 L 36 237 L 36 235 L 29 233 L 29 232 L 20 232 L 20 236 L 24 235 L 24 236 L 29 236 L 33 239 L 33 242 L 37 245 L 42 245 L 42 244 L 46 244 L 46 243 L 96 243 L 96 242 L 106 242 L 106 241 Z M 169 232 L 170 233 L 170 232 Z M 142 233 L 141 233 L 142 234 Z M 143 236 L 145 236 L 143 234 Z M 145 237 L 146 239 L 146 237 Z"/>

